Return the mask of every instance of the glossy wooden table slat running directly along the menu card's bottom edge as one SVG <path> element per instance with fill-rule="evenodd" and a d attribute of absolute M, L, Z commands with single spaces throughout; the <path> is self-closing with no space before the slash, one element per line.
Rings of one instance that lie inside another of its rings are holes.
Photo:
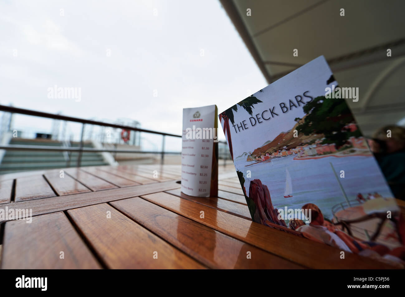
<path fill-rule="evenodd" d="M 153 193 L 141 197 L 217 231 L 306 267 L 314 269 L 393 268 L 385 263 L 351 253 L 346 253 L 345 259 L 340 259 L 340 250 L 338 248 L 266 227 L 168 193 Z M 203 219 L 200 217 L 201 211 L 204 211 Z"/>

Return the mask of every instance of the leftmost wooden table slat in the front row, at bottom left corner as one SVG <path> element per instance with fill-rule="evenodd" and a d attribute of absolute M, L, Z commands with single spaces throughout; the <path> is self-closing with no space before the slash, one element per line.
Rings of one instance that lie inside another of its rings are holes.
<path fill-rule="evenodd" d="M 2 269 L 101 268 L 63 212 L 26 222 L 6 223 Z M 64 259 L 60 259 L 60 252 Z"/>

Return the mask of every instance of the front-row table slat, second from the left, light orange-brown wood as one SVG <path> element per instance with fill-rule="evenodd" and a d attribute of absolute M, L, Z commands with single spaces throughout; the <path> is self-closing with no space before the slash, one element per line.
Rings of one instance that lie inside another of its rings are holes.
<path fill-rule="evenodd" d="M 72 209 L 68 214 L 109 268 L 204 268 L 108 204 Z M 153 259 L 155 251 L 157 259 Z"/>

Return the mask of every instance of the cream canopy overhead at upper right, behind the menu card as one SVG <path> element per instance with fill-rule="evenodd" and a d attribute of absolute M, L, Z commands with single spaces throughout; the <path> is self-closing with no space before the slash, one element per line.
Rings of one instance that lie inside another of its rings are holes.
<path fill-rule="evenodd" d="M 269 83 L 324 55 L 363 134 L 404 119 L 405 1 L 220 1 Z"/>

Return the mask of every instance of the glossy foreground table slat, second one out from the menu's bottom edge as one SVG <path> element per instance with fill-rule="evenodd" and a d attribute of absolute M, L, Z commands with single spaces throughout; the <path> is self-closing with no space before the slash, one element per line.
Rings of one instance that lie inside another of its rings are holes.
<path fill-rule="evenodd" d="M 139 197 L 111 205 L 211 268 L 303 268 Z"/>

